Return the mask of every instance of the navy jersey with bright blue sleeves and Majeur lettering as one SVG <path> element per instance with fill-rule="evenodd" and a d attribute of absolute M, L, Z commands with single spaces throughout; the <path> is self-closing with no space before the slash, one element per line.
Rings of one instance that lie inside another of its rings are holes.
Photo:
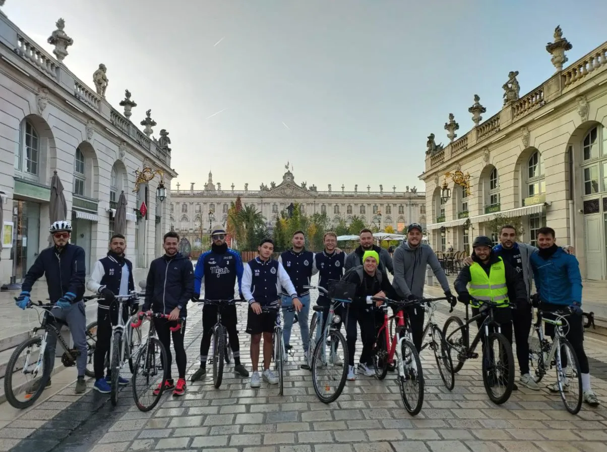
<path fill-rule="evenodd" d="M 208 300 L 230 300 L 234 298 L 234 285 L 238 279 L 238 291 L 242 284 L 244 266 L 240 255 L 227 246 L 216 247 L 200 254 L 194 270 L 194 293 L 200 296 L 205 282 L 205 298 Z"/>

